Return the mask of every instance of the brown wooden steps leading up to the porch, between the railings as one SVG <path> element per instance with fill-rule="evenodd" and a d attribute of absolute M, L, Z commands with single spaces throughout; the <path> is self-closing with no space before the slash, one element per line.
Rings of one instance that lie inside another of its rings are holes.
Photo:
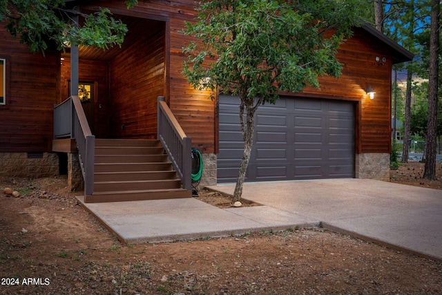
<path fill-rule="evenodd" d="M 94 190 L 86 203 L 191 196 L 159 140 L 95 140 Z"/>

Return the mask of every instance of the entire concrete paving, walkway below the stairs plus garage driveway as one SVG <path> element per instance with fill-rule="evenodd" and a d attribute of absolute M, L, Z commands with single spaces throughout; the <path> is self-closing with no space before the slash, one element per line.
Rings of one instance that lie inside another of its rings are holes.
<path fill-rule="evenodd" d="M 209 188 L 232 194 L 234 187 Z M 377 180 L 298 180 L 246 183 L 242 197 L 262 206 L 219 209 L 198 198 L 83 205 L 128 243 L 325 227 L 442 260 L 440 190 Z"/>

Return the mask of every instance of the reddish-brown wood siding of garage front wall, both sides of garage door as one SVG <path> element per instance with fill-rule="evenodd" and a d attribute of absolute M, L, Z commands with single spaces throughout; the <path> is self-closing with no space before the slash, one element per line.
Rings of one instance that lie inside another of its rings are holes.
<path fill-rule="evenodd" d="M 98 8 L 100 3 L 90 8 Z M 108 3 L 114 13 L 139 17 L 151 17 L 166 21 L 166 88 L 164 95 L 177 120 L 187 135 L 192 137 L 193 146 L 205 153 L 217 149 L 218 120 L 215 117 L 215 102 L 210 94 L 191 88 L 182 76 L 182 61 L 185 57 L 182 48 L 191 41 L 180 33 L 184 21 L 195 17 L 193 1 L 140 1 L 131 10 L 122 4 Z M 356 152 L 390 152 L 390 83 L 392 58 L 378 40 L 360 29 L 355 30 L 338 52 L 338 59 L 344 64 L 343 75 L 339 79 L 320 79 L 320 89 L 306 88 L 301 94 L 305 97 L 345 99 L 357 102 L 356 109 Z M 167 53 L 166 53 L 167 54 Z M 375 57 L 386 58 L 378 63 Z M 376 91 L 375 99 L 365 93 L 367 86 Z M 288 93 L 282 93 L 287 95 Z M 295 94 L 291 94 L 295 95 Z"/>

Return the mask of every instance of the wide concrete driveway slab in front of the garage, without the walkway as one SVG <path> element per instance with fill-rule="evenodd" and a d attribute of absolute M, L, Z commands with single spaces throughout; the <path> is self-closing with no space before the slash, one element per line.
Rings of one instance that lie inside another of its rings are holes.
<path fill-rule="evenodd" d="M 212 189 L 233 193 L 234 184 Z M 243 198 L 353 236 L 442 259 L 442 191 L 367 179 L 256 182 Z M 245 208 L 244 208 L 245 209 Z"/>

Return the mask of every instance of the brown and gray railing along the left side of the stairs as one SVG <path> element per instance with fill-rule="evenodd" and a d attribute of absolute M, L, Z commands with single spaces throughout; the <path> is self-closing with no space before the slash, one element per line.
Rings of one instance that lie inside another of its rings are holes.
<path fill-rule="evenodd" d="M 95 136 L 78 96 L 73 95 L 54 107 L 54 137 L 75 138 L 84 179 L 84 194 L 91 196 L 94 188 Z"/>

